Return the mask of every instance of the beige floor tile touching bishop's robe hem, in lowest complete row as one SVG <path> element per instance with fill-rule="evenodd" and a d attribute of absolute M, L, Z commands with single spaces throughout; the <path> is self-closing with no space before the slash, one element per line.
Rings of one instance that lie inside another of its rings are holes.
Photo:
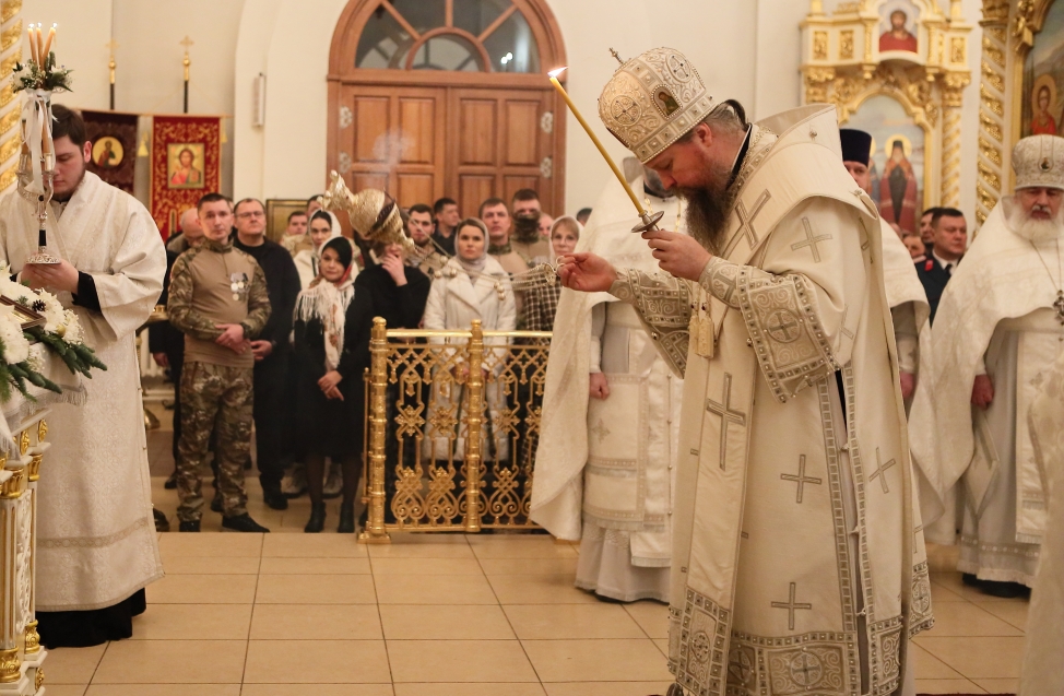
<path fill-rule="evenodd" d="M 522 640 L 521 645 L 543 683 L 669 680 L 665 658 L 647 638 Z"/>

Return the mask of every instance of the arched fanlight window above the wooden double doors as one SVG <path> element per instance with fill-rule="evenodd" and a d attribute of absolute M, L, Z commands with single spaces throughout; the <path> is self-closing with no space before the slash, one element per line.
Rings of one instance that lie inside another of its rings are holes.
<path fill-rule="evenodd" d="M 512 0 L 382 0 L 355 68 L 537 73 L 540 48 Z"/>

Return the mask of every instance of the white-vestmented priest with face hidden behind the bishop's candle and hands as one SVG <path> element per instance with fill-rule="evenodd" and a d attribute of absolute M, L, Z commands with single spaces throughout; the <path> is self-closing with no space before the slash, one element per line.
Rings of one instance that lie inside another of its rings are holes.
<path fill-rule="evenodd" d="M 677 198 L 655 196 L 646 181 L 657 175 L 642 174 L 641 165 L 638 170 L 633 188 L 678 225 Z M 577 249 L 618 266 L 657 268 L 647 243 L 631 234 L 638 217 L 616 181 L 593 210 Z M 669 601 L 683 390 L 671 367 L 630 305 L 608 293 L 563 291 L 547 359 L 532 519 L 558 539 L 581 541 L 577 587 L 623 602 Z M 604 382 L 595 398 L 589 398 L 592 379 L 600 389 Z"/>

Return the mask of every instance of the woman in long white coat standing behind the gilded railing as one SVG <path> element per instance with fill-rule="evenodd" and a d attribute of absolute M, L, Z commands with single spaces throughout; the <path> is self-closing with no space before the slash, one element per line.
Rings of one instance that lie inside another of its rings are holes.
<path fill-rule="evenodd" d="M 454 233 L 456 256 L 436 274 L 425 306 L 424 327 L 433 330 L 469 330 L 474 319 L 481 320 L 484 331 L 512 331 L 517 327 L 517 305 L 510 279 L 498 261 L 487 253 L 487 228 L 480 220 L 468 219 L 459 223 Z M 436 343 L 465 343 L 465 339 L 434 339 Z M 506 344 L 506 339 L 486 338 L 484 344 Z M 506 350 L 496 349 L 495 355 L 485 351 L 484 399 L 487 413 L 484 418 L 484 438 L 481 452 L 484 462 L 507 457 L 506 433 L 495 433 L 494 423 L 498 421 L 498 409 L 503 403 L 501 388 L 492 375 L 501 371 Z M 453 363 L 451 363 L 453 361 Z M 468 368 L 461 358 L 448 361 L 452 364 L 456 379 L 437 379 L 433 390 L 431 411 L 441 412 L 454 409 L 458 424 L 450 433 L 429 427 L 425 439 L 425 456 L 447 465 L 447 461 L 461 462 L 464 459 L 464 434 L 462 427 L 468 404 L 465 376 Z M 434 418 L 428 418 L 429 423 Z M 453 438 L 453 439 L 452 439 Z M 453 446 L 451 443 L 453 441 Z"/>

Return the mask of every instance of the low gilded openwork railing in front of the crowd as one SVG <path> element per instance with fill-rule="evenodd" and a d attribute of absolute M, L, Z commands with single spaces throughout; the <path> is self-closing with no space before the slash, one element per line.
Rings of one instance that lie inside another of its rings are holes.
<path fill-rule="evenodd" d="M 359 540 L 389 531 L 532 529 L 551 334 L 389 331 L 375 319 Z"/>

